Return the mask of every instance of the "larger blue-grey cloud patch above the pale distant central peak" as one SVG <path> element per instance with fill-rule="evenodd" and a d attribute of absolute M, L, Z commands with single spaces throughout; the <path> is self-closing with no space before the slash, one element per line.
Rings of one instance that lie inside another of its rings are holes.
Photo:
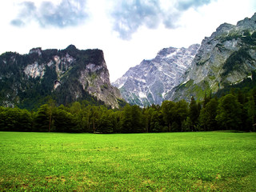
<path fill-rule="evenodd" d="M 198 8 L 214 0 L 121 0 L 111 16 L 119 37 L 129 40 L 140 26 L 155 29 L 162 23 L 166 28 L 178 27 L 178 19 L 190 8 Z"/>

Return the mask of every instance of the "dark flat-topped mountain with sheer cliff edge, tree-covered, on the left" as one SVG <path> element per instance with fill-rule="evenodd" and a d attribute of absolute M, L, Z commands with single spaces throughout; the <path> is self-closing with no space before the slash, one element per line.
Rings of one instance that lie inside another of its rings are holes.
<path fill-rule="evenodd" d="M 34 48 L 0 55 L 0 105 L 33 109 L 49 98 L 60 104 L 86 100 L 118 107 L 102 50 Z"/>

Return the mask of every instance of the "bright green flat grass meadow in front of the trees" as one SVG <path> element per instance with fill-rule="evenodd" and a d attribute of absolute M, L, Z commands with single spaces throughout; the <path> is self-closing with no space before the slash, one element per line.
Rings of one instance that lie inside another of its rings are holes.
<path fill-rule="evenodd" d="M 256 191 L 256 133 L 0 132 L 0 191 Z"/>

